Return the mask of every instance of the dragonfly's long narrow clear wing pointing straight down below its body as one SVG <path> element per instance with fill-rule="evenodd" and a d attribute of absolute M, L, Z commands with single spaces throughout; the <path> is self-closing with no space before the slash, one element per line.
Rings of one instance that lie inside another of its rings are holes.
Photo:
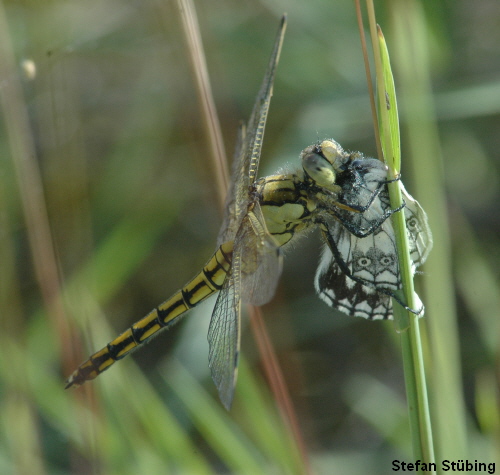
<path fill-rule="evenodd" d="M 240 256 L 233 253 L 233 266 L 217 297 L 208 328 L 208 365 L 224 407 L 233 402 L 238 374 L 241 339 Z"/>

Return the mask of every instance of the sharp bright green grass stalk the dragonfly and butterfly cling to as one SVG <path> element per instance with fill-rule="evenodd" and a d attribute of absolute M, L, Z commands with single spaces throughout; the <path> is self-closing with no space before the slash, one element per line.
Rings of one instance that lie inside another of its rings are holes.
<path fill-rule="evenodd" d="M 377 78 L 377 104 L 380 141 L 384 159 L 389 168 L 389 178 L 400 176 L 401 149 L 396 93 L 392 76 L 389 54 L 384 36 L 376 26 L 373 2 L 367 1 L 370 33 Z M 389 183 L 391 206 L 398 208 L 403 204 L 398 181 Z M 396 236 L 400 274 L 404 301 L 416 309 L 420 303 L 415 298 L 413 275 L 409 256 L 408 237 L 404 213 L 394 213 L 392 224 Z M 424 463 L 435 463 L 431 420 L 427 398 L 427 386 L 423 365 L 423 352 L 420 340 L 418 316 L 393 301 L 396 329 L 401 334 L 403 366 L 408 402 L 410 431 L 414 457 Z M 428 473 L 435 473 L 429 470 Z"/>

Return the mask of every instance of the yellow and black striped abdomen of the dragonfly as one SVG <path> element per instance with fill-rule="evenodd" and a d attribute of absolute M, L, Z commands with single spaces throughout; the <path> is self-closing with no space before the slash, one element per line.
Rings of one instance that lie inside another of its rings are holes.
<path fill-rule="evenodd" d="M 168 328 L 191 308 L 218 292 L 231 267 L 233 243 L 222 244 L 202 271 L 186 286 L 127 331 L 94 353 L 68 378 L 66 388 L 94 379 L 115 361 L 128 355 L 162 329 Z"/>

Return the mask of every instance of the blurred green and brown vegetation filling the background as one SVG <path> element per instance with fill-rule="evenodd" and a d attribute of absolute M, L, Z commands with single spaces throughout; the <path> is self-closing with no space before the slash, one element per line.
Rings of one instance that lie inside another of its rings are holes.
<path fill-rule="evenodd" d="M 419 287 L 425 324 L 440 321 L 439 296 L 449 294 L 461 358 L 450 371 L 460 372 L 467 408 L 469 452 L 459 455 L 494 462 L 500 4 L 422 3 L 417 19 L 403 18 L 397 4 L 418 2 L 377 2 L 394 52 L 403 179 L 436 240 L 417 286 L 451 262 L 445 282 Z M 325 137 L 375 154 L 351 1 L 220 0 L 196 8 L 229 156 L 283 11 L 289 25 L 260 174 L 297 166 L 300 151 Z M 0 9 L 8 25 L 2 55 L 14 59 L 10 69 L 2 65 L 0 88 L 22 88 L 17 105 L 29 125 L 15 146 L 12 116 L 0 127 L 0 473 L 301 473 L 248 329 L 234 407 L 226 413 L 218 402 L 207 366 L 210 302 L 95 382 L 63 390 L 75 364 L 200 269 L 215 248 L 220 213 L 173 2 L 6 1 Z M 416 56 L 401 46 L 406 36 L 419 38 L 413 47 L 424 51 L 426 68 L 414 79 L 429 81 L 432 92 L 425 101 L 437 129 L 422 135 L 413 135 L 421 130 L 404 62 Z M 26 166 L 13 166 L 19 150 L 31 151 L 39 168 L 52 261 L 43 226 L 23 214 L 26 194 L 35 204 L 40 196 L 36 178 L 19 185 Z M 419 166 L 433 175 L 423 184 L 413 180 Z M 441 173 L 444 182 L 435 180 Z M 426 188 L 432 180 L 443 208 Z M 320 247 L 312 234 L 288 253 L 282 285 L 263 309 L 266 324 L 313 469 L 386 474 L 392 460 L 412 460 L 398 340 L 392 323 L 345 317 L 314 295 Z M 47 280 L 51 269 L 60 286 Z M 429 351 L 436 358 L 448 350 L 441 337 L 439 351 Z M 432 376 L 433 360 L 427 365 Z M 431 381 L 432 402 L 446 382 Z"/>

